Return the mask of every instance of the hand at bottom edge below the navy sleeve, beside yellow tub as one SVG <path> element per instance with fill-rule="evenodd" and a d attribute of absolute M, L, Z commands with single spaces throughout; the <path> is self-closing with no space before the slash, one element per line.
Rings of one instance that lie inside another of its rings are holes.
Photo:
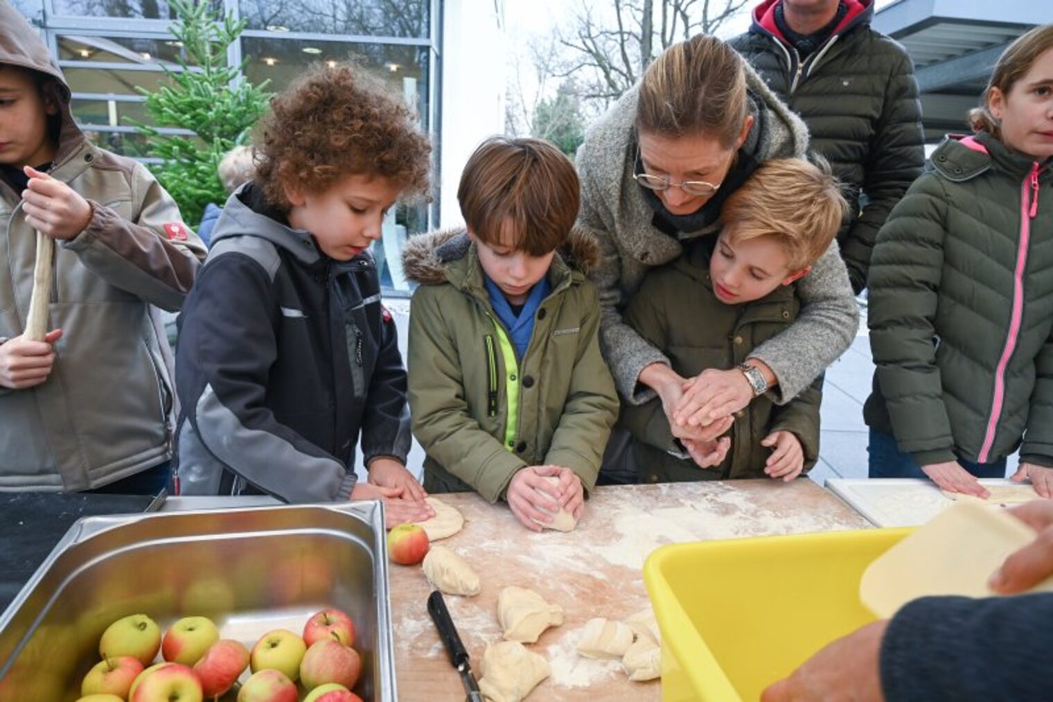
<path fill-rule="evenodd" d="M 760 702 L 882 700 L 878 661 L 888 620 L 872 622 L 804 661 L 792 676 L 770 685 Z"/>

